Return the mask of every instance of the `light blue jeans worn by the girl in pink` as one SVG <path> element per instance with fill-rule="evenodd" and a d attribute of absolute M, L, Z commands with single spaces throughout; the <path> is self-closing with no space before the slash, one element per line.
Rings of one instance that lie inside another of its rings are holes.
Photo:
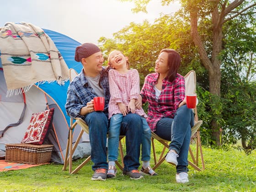
<path fill-rule="evenodd" d="M 118 143 L 119 143 L 119 133 L 120 125 L 123 120 L 123 114 L 114 114 L 110 119 L 110 126 L 108 131 L 108 161 L 116 161 L 118 156 Z M 141 148 L 141 160 L 150 160 L 150 150 L 151 150 L 151 130 L 144 117 L 140 117 L 142 121 L 142 148 Z"/>

